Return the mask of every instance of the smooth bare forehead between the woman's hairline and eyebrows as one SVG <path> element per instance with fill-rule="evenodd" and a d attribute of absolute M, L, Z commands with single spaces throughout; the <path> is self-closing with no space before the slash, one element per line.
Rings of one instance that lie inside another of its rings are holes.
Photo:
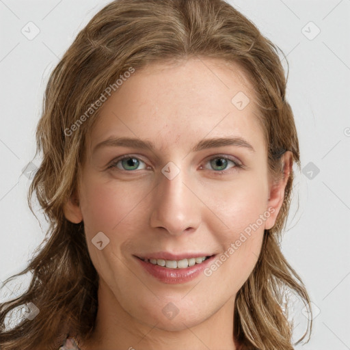
<path fill-rule="evenodd" d="M 90 146 L 116 134 L 152 139 L 159 147 L 208 134 L 256 138 L 262 131 L 255 100 L 238 64 L 208 58 L 149 64 L 100 108 Z"/>

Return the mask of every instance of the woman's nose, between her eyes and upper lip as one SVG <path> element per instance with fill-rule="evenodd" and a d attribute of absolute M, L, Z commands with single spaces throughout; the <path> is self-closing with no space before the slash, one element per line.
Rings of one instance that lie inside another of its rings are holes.
<path fill-rule="evenodd" d="M 200 189 L 195 188 L 190 172 L 180 169 L 172 179 L 164 174 L 159 174 L 159 183 L 154 189 L 151 227 L 176 236 L 195 232 L 200 226 L 204 206 L 196 193 Z"/>

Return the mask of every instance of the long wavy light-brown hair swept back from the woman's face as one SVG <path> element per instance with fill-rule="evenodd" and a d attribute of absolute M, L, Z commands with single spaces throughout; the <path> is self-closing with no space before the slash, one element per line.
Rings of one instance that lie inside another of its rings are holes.
<path fill-rule="evenodd" d="M 32 275 L 25 293 L 0 304 L 2 350 L 57 349 L 67 334 L 85 339 L 92 334 L 98 273 L 87 250 L 83 221 L 72 224 L 63 211 L 79 186 L 85 140 L 98 116 L 92 105 L 131 67 L 138 70 L 191 57 L 238 64 L 247 73 L 266 135 L 269 174 L 282 176 L 281 157 L 287 150 L 300 169 L 293 111 L 286 101 L 288 75 L 284 76 L 278 46 L 243 14 L 223 0 L 109 3 L 78 33 L 46 85 L 36 130 L 36 154 L 42 152 L 42 162 L 27 200 L 34 214 L 35 193 L 49 229 L 28 267 L 4 283 L 28 272 Z M 90 116 L 77 124 L 86 111 Z M 75 131 L 68 135 L 73 124 Z M 275 225 L 265 230 L 256 266 L 237 293 L 232 332 L 241 349 L 294 349 L 293 323 L 282 308 L 286 288 L 312 312 L 306 287 L 280 249 L 292 186 L 293 170 Z M 29 303 L 40 310 L 36 317 L 5 327 L 6 315 Z M 309 317 L 306 332 L 296 344 L 308 333 L 310 340 L 311 326 Z"/>

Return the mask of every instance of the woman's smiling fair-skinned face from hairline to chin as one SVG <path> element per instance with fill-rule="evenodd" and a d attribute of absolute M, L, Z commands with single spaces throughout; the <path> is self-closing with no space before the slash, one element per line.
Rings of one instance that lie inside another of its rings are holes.
<path fill-rule="evenodd" d="M 65 214 L 84 221 L 100 280 L 131 318 L 175 330 L 232 312 L 285 185 L 269 180 L 257 113 L 243 72 L 214 59 L 150 65 L 101 107 Z M 212 257 L 177 270 L 139 259 L 164 254 Z"/>

